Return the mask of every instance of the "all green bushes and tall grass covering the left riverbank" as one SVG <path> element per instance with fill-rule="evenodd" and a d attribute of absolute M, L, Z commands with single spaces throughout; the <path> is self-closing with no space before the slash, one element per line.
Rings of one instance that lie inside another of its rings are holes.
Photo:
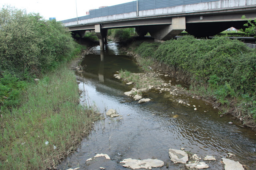
<path fill-rule="evenodd" d="M 82 48 L 60 22 L 0 9 L 0 169 L 54 168 L 90 132 L 98 114 L 64 64 Z"/>

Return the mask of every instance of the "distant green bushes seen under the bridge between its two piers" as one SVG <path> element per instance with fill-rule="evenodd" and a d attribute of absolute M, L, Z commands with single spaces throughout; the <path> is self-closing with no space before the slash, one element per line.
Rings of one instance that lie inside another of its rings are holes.
<path fill-rule="evenodd" d="M 136 35 L 136 31 L 134 28 L 109 29 L 108 35 L 118 39 L 118 41 L 125 41 L 132 35 Z"/>

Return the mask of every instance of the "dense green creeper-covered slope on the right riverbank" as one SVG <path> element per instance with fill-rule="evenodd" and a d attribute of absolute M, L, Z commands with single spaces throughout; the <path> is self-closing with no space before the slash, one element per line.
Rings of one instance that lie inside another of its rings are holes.
<path fill-rule="evenodd" d="M 224 113 L 232 112 L 245 124 L 255 125 L 255 49 L 225 37 L 184 36 L 162 44 L 142 43 L 136 52 L 182 72 L 191 90 L 216 100 Z"/>

